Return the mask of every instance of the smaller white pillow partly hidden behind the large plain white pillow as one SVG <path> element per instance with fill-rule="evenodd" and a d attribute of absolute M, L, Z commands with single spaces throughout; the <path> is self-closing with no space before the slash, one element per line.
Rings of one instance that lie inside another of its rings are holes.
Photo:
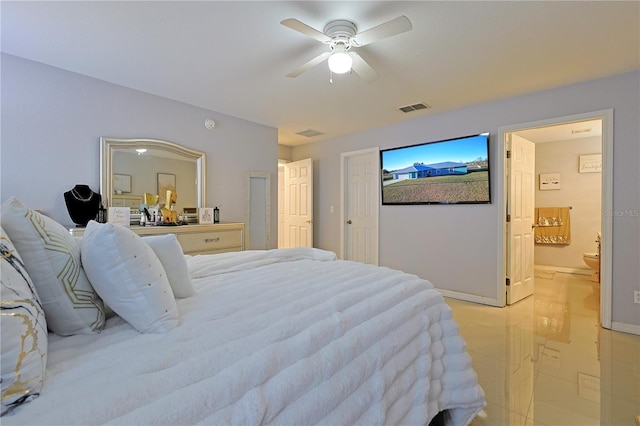
<path fill-rule="evenodd" d="M 193 296 L 196 292 L 189 276 L 187 260 L 175 234 L 152 235 L 142 238 L 151 246 L 169 278 L 173 295 L 178 299 Z"/>

